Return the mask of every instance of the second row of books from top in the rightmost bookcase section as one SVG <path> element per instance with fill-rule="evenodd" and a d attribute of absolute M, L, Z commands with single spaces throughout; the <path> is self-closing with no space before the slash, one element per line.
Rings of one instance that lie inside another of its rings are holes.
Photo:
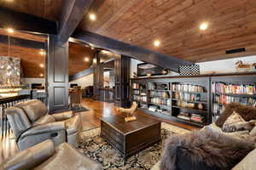
<path fill-rule="evenodd" d="M 213 95 L 213 103 L 218 103 L 222 105 L 230 104 L 231 102 L 238 102 L 242 105 L 256 105 L 256 98 L 241 98 L 229 95 Z"/>

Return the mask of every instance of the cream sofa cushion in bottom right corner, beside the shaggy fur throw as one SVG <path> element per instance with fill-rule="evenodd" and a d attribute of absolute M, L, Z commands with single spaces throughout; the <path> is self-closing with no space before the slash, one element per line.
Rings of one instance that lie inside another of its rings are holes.
<path fill-rule="evenodd" d="M 243 158 L 236 167 L 233 167 L 232 170 L 255 170 L 256 168 L 256 149 L 251 151 L 245 158 Z"/>

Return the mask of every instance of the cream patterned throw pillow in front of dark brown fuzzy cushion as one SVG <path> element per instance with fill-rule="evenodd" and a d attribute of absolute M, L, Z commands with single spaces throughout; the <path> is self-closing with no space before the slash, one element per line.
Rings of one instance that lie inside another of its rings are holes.
<path fill-rule="evenodd" d="M 236 111 L 233 111 L 232 115 L 224 122 L 222 130 L 226 133 L 236 132 L 237 124 L 243 122 L 245 122 L 245 120 Z"/>

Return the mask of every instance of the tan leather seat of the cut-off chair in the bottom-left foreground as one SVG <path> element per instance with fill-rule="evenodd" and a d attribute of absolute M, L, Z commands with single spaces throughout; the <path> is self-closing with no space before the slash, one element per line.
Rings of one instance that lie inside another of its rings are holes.
<path fill-rule="evenodd" d="M 82 155 L 67 143 L 63 143 L 56 148 L 55 156 L 44 161 L 36 170 L 102 170 L 102 166 L 89 157 Z"/>

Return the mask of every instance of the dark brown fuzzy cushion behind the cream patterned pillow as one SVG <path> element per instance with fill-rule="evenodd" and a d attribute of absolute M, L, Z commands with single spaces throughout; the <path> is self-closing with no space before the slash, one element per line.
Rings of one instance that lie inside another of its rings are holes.
<path fill-rule="evenodd" d="M 223 127 L 224 122 L 227 118 L 236 111 L 239 115 L 246 121 L 256 120 L 256 107 L 250 107 L 246 105 L 241 105 L 239 103 L 230 103 L 225 106 L 224 112 L 216 120 L 216 125 L 218 127 Z"/>

